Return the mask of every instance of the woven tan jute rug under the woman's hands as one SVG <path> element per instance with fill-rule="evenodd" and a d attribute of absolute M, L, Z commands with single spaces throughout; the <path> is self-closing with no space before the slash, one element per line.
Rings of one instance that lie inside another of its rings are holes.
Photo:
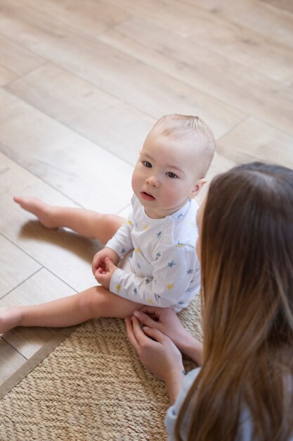
<path fill-rule="evenodd" d="M 179 317 L 201 339 L 198 297 Z M 74 328 L 4 395 L 0 439 L 164 441 L 168 406 L 164 384 L 126 340 L 124 321 L 93 320 Z"/>

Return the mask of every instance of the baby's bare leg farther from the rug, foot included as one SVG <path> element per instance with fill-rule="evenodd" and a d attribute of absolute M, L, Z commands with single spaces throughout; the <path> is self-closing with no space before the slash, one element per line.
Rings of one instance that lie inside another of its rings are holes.
<path fill-rule="evenodd" d="M 45 204 L 34 197 L 14 197 L 22 209 L 33 213 L 47 228 L 67 227 L 84 237 L 98 239 L 105 244 L 124 223 L 124 218 L 114 214 L 72 209 Z"/>

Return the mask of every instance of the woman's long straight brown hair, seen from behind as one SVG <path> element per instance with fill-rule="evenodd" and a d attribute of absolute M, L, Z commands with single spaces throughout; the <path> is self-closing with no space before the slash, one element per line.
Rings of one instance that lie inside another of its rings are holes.
<path fill-rule="evenodd" d="M 287 441 L 293 431 L 293 170 L 211 182 L 202 223 L 204 363 L 177 440 Z M 247 426 L 241 419 L 247 414 Z M 183 435 L 186 434 L 187 435 Z M 246 434 L 247 436 L 248 434 Z"/>

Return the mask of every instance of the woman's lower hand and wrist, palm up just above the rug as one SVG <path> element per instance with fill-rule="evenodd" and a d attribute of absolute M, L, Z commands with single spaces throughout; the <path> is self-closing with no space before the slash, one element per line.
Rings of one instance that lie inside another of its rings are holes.
<path fill-rule="evenodd" d="M 166 384 L 171 404 L 183 381 L 181 353 L 175 344 L 157 329 L 139 325 L 136 317 L 126 318 L 126 331 L 143 365 Z"/>

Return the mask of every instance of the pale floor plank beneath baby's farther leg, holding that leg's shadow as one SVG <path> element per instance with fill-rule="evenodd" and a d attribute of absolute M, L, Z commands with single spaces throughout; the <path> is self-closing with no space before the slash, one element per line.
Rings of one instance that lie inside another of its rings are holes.
<path fill-rule="evenodd" d="M 74 290 L 82 291 L 96 285 L 91 273 L 91 261 L 93 254 L 100 249 L 100 243 L 86 240 L 69 230 L 48 230 L 42 227 L 32 214 L 15 204 L 12 199 L 14 194 L 33 195 L 44 199 L 48 204 L 77 206 L 0 154 L 0 199 L 1 206 L 5 206 L 0 217 L 0 231 Z"/>

